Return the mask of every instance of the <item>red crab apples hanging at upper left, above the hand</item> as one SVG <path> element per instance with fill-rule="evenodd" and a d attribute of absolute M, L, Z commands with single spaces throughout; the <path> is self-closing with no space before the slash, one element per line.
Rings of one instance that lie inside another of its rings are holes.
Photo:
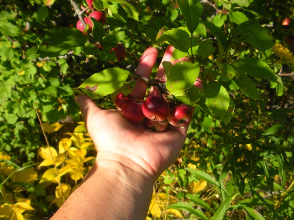
<path fill-rule="evenodd" d="M 95 10 L 95 8 L 93 7 L 93 0 L 87 0 L 87 4 L 91 10 Z M 88 27 L 89 27 L 88 29 L 90 31 L 92 31 L 93 29 L 93 23 L 90 18 L 96 19 L 98 22 L 102 24 L 102 26 L 104 26 L 107 21 L 107 18 L 104 12 L 102 11 L 91 12 L 88 17 L 83 18 L 85 23 L 88 24 Z M 81 32 L 83 32 L 85 35 L 87 35 L 87 32 L 84 31 L 86 28 L 84 27 L 84 25 L 82 24 L 80 20 L 76 22 L 76 28 L 80 30 Z M 118 44 L 116 47 L 112 48 L 112 51 L 114 51 L 118 62 L 121 62 L 125 58 L 125 48 L 122 44 Z"/>

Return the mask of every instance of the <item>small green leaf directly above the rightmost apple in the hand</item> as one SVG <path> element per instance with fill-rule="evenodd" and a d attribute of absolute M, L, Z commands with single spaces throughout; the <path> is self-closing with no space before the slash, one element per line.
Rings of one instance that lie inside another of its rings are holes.
<path fill-rule="evenodd" d="M 196 106 L 196 103 L 201 98 L 200 89 L 195 86 L 192 86 L 187 90 L 173 92 L 172 95 L 181 103 L 189 106 Z"/>

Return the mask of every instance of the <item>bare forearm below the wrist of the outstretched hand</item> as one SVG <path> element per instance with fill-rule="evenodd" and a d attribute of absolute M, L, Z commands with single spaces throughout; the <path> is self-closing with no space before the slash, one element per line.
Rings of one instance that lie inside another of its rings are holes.
<path fill-rule="evenodd" d="M 51 219 L 145 220 L 153 181 L 131 163 L 96 162 Z"/>

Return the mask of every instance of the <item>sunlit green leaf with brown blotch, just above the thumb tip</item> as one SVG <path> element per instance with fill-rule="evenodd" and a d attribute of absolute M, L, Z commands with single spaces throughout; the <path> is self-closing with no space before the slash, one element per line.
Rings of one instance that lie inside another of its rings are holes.
<path fill-rule="evenodd" d="M 130 73 L 127 70 L 121 68 L 108 68 L 93 74 L 78 88 L 82 89 L 89 97 L 98 99 L 121 88 L 128 74 Z"/>

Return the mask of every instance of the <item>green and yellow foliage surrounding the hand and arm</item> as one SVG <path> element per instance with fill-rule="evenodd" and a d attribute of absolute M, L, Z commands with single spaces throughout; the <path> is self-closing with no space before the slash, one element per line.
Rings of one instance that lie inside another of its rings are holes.
<path fill-rule="evenodd" d="M 96 152 L 73 88 L 110 67 L 134 70 L 151 45 L 159 50 L 154 76 L 172 44 L 174 59 L 193 52 L 203 94 L 178 160 L 154 185 L 147 218 L 294 219 L 294 23 L 282 25 L 294 2 L 94 6 L 107 25 L 94 23 L 92 37 L 74 29 L 69 0 L 0 1 L 0 218 L 49 217 L 91 168 Z M 127 52 L 121 63 L 109 52 L 117 43 Z M 215 88 L 227 91 L 230 107 L 213 108 Z M 115 108 L 109 95 L 97 103 Z"/>

